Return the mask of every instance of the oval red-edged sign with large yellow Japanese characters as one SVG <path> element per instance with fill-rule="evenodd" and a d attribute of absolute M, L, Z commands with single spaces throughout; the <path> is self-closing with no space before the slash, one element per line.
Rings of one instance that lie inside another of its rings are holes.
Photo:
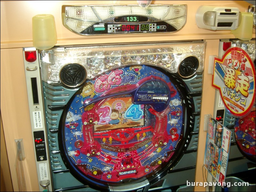
<path fill-rule="evenodd" d="M 219 90 L 226 109 L 236 117 L 248 114 L 255 101 L 255 66 L 239 47 L 215 58 L 212 86 Z"/>

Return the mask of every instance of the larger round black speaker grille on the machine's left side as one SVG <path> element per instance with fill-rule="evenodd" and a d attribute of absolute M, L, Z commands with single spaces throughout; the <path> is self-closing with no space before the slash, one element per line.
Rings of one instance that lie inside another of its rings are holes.
<path fill-rule="evenodd" d="M 65 65 L 60 71 L 61 82 L 69 87 L 77 87 L 85 82 L 86 70 L 77 63 Z"/>

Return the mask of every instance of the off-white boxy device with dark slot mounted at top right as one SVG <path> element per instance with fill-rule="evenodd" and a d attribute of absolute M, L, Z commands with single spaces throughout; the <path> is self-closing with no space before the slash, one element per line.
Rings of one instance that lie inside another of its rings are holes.
<path fill-rule="evenodd" d="M 235 30 L 240 24 L 241 13 L 236 7 L 200 6 L 196 24 L 208 30 Z"/>

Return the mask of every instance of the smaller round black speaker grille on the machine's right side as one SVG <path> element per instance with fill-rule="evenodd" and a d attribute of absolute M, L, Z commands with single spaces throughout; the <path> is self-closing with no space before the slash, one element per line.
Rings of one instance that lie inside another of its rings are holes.
<path fill-rule="evenodd" d="M 195 56 L 186 57 L 179 65 L 178 73 L 183 78 L 194 75 L 199 67 L 198 58 Z"/>

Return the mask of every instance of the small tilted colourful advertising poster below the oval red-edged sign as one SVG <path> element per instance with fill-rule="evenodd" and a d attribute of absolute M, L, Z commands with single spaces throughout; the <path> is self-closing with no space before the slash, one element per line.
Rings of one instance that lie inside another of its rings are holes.
<path fill-rule="evenodd" d="M 224 182 L 228 166 L 231 131 L 209 118 L 204 166 L 218 182 Z"/>

